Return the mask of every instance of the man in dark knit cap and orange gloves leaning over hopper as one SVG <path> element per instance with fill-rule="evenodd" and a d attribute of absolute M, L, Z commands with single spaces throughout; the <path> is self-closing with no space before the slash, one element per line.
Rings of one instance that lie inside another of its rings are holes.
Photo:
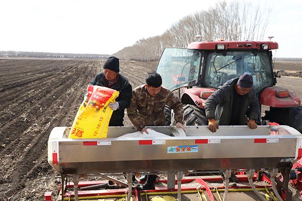
<path fill-rule="evenodd" d="M 256 129 L 260 106 L 253 89 L 253 77 L 244 73 L 219 86 L 206 99 L 205 114 L 211 132 L 216 132 L 218 125 L 248 125 Z"/>

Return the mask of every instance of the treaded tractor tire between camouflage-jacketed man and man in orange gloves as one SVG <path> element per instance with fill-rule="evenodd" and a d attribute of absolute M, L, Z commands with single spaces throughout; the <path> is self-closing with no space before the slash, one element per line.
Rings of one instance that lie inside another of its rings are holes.
<path fill-rule="evenodd" d="M 184 125 L 204 126 L 208 125 L 205 111 L 193 105 L 184 105 Z"/>

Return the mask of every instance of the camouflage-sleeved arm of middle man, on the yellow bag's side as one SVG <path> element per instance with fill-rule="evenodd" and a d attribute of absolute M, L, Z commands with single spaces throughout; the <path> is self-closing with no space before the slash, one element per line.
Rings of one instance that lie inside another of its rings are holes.
<path fill-rule="evenodd" d="M 137 130 L 141 131 L 144 128 L 144 122 L 140 119 L 137 112 L 137 95 L 135 91 L 132 91 L 132 97 L 130 106 L 127 108 L 127 115 L 132 124 L 137 128 Z"/>

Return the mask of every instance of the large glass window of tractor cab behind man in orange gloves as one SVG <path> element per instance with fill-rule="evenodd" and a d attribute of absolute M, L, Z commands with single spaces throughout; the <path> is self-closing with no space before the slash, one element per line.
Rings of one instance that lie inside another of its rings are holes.
<path fill-rule="evenodd" d="M 271 62 L 265 52 L 228 51 L 212 52 L 207 57 L 204 81 L 217 88 L 226 81 L 250 73 L 256 92 L 273 82 Z"/>

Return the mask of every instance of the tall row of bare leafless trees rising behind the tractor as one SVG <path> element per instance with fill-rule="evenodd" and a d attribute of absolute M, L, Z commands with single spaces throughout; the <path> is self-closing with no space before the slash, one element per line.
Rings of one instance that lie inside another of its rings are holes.
<path fill-rule="evenodd" d="M 225 1 L 207 11 L 188 15 L 162 35 L 140 39 L 114 54 L 122 60 L 157 61 L 165 47 L 182 47 L 200 35 L 200 41 L 263 40 L 271 9 L 248 2 Z"/>

